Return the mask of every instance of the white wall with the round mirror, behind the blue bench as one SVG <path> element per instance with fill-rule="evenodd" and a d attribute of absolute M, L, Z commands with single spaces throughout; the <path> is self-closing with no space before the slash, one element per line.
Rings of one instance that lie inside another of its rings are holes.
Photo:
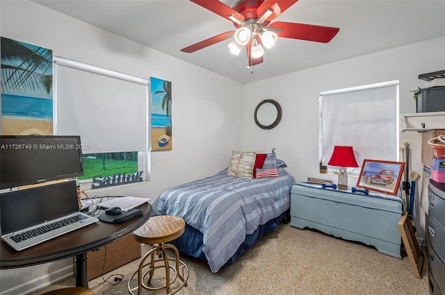
<path fill-rule="evenodd" d="M 301 57 L 296 55 L 296 58 Z M 416 103 L 411 91 L 426 83 L 417 77 L 442 69 L 445 69 L 445 37 L 249 83 L 243 89 L 244 148 L 267 152 L 275 147 L 277 158 L 288 164 L 288 170 L 297 182 L 306 181 L 307 176 L 312 176 L 330 178 L 337 183 L 337 176 L 318 173 L 320 92 L 399 81 L 400 113 L 414 113 Z M 283 109 L 282 121 L 272 130 L 262 130 L 254 124 L 254 110 L 263 99 L 275 99 Z M 408 142 L 411 148 L 410 171 L 421 175 L 421 133 L 401 133 L 401 146 L 403 142 Z M 350 187 L 356 183 L 357 178 L 349 178 Z M 418 184 L 418 193 L 420 187 Z M 416 208 L 419 208 L 418 205 Z M 419 215 L 424 228 L 424 215 Z M 423 233 L 419 235 L 424 237 Z"/>

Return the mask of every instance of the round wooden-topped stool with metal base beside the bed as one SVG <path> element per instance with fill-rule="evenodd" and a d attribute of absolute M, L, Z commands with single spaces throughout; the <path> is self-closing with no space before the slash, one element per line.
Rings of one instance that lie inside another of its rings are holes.
<path fill-rule="evenodd" d="M 138 295 L 142 294 L 142 289 L 152 290 L 152 291 L 158 291 L 161 289 L 165 289 L 166 294 L 175 294 L 178 292 L 182 287 L 187 285 L 188 280 L 188 267 L 184 262 L 179 260 L 179 252 L 175 246 L 172 244 L 165 244 L 167 242 L 171 242 L 174 239 L 177 239 L 180 237 L 186 228 L 186 223 L 184 219 L 181 219 L 180 217 L 170 216 L 170 215 L 159 215 L 150 217 L 148 221 L 135 230 L 133 232 L 133 238 L 136 240 L 136 242 L 140 242 L 143 244 L 150 244 L 153 245 L 152 249 L 147 252 L 147 254 L 144 255 L 143 259 L 140 261 L 139 268 L 137 271 L 131 275 L 131 278 L 128 282 L 128 290 L 130 294 L 133 294 L 133 291 L 138 289 Z M 167 258 L 167 255 L 165 253 L 165 249 L 172 249 L 175 252 L 175 258 Z M 154 259 L 154 255 L 159 255 L 159 259 Z M 152 258 L 150 262 L 145 263 L 145 260 L 148 258 Z M 174 261 L 175 267 L 170 266 L 168 261 Z M 154 264 L 156 262 L 163 262 L 161 265 L 155 266 Z M 179 264 L 183 267 L 182 272 L 183 274 L 179 273 Z M 143 273 L 143 268 L 149 267 L 145 273 Z M 155 269 L 158 268 L 164 268 L 165 267 L 165 285 L 161 287 L 149 287 L 147 285 L 151 285 L 152 278 L 154 275 Z M 170 280 L 170 269 L 172 269 L 175 272 L 175 276 Z M 186 276 L 184 277 L 184 270 L 186 271 Z M 131 280 L 134 276 L 136 276 L 136 273 L 138 273 L 138 287 L 130 287 Z M 147 285 L 143 283 L 143 280 L 146 276 L 148 277 Z M 176 278 L 179 278 L 181 280 L 181 285 L 177 287 L 177 289 L 173 290 L 170 288 L 170 286 L 175 283 Z"/>

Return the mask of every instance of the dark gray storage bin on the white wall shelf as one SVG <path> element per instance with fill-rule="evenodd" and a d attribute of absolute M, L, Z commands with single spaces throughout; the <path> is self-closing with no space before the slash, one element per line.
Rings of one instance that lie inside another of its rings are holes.
<path fill-rule="evenodd" d="M 419 90 L 416 99 L 416 112 L 442 111 L 445 111 L 445 87 Z"/>

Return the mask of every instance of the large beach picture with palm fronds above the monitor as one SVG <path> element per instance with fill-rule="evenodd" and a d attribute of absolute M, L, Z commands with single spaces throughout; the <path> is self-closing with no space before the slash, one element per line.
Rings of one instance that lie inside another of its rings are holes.
<path fill-rule="evenodd" d="M 1 134 L 53 134 L 53 54 L 1 37 Z"/>

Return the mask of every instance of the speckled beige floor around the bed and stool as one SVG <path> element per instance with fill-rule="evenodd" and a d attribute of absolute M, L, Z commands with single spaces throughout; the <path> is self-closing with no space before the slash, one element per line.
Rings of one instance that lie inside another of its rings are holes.
<path fill-rule="evenodd" d="M 143 253 L 147 249 L 144 245 Z M 415 278 L 404 252 L 403 259 L 393 258 L 364 244 L 346 242 L 316 230 L 300 230 L 289 224 L 281 224 L 232 266 L 218 273 L 212 273 L 205 262 L 194 258 L 181 256 L 181 260 L 188 266 L 189 278 L 186 287 L 177 292 L 179 295 L 429 294 L 426 265 L 422 278 Z M 127 283 L 137 267 L 138 260 L 126 264 L 103 278 L 91 280 L 90 288 L 97 295 L 129 294 Z M 124 279 L 112 285 L 118 275 Z M 109 276 L 110 283 L 104 283 Z M 155 279 L 156 276 L 154 282 Z M 67 278 L 31 295 L 73 285 L 74 278 Z M 165 294 L 165 291 L 143 294 Z"/>

